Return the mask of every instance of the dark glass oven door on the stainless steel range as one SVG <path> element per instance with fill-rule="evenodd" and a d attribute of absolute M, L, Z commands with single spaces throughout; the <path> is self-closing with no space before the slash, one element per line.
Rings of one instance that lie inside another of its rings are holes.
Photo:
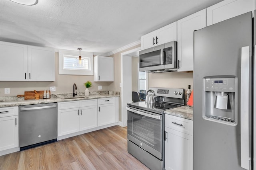
<path fill-rule="evenodd" d="M 128 112 L 128 134 L 156 150 L 161 150 L 161 126 L 161 120 Z"/>

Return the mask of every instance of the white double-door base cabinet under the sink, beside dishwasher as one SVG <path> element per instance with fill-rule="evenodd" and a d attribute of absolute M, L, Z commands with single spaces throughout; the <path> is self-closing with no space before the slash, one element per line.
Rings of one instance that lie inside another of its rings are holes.
<path fill-rule="evenodd" d="M 58 136 L 97 127 L 97 99 L 58 102 Z"/>

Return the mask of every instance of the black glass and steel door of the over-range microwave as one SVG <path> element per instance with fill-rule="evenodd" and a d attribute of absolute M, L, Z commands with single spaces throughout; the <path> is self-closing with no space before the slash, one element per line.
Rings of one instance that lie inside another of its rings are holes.
<path fill-rule="evenodd" d="M 164 69 L 164 44 L 139 51 L 140 71 Z"/>

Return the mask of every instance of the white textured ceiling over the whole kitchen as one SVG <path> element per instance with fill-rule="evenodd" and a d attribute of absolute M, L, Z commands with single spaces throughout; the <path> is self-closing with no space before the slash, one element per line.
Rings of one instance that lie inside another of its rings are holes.
<path fill-rule="evenodd" d="M 0 41 L 111 54 L 222 0 L 0 0 Z"/>

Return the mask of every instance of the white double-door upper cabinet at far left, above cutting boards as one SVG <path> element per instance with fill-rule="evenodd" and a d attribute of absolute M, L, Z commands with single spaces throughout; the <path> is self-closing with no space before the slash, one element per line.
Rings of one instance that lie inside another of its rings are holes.
<path fill-rule="evenodd" d="M 0 41 L 0 81 L 55 81 L 54 49 Z"/>

